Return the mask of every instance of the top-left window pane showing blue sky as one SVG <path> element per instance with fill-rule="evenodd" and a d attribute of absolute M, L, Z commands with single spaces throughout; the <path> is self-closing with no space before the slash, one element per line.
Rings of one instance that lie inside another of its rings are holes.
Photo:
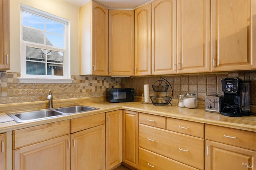
<path fill-rule="evenodd" d="M 44 30 L 44 18 L 22 11 L 22 25 Z"/>

